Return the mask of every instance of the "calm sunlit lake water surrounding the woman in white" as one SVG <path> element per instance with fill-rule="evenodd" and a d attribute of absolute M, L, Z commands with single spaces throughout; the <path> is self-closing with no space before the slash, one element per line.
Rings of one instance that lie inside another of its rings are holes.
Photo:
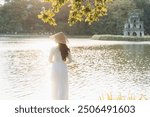
<path fill-rule="evenodd" d="M 70 39 L 68 45 L 74 60 L 68 65 L 69 99 L 110 92 L 150 98 L 150 42 Z M 0 99 L 48 99 L 52 46 L 46 38 L 1 39 Z"/>

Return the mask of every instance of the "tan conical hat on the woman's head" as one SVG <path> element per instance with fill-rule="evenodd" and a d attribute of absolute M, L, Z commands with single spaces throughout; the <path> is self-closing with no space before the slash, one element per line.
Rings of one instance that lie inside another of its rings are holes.
<path fill-rule="evenodd" d="M 63 32 L 51 35 L 50 38 L 54 39 L 57 43 L 66 44 L 68 42 L 68 39 Z"/>

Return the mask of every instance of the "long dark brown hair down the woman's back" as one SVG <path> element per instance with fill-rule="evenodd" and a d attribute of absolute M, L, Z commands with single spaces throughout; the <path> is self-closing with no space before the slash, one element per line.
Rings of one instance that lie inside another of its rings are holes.
<path fill-rule="evenodd" d="M 58 43 L 59 50 L 61 52 L 62 60 L 66 61 L 66 58 L 68 56 L 68 53 L 70 52 L 70 49 L 66 44 Z"/>

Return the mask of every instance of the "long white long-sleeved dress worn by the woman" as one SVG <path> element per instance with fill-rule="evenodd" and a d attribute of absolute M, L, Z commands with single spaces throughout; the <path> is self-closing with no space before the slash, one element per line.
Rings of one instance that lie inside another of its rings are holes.
<path fill-rule="evenodd" d="M 68 54 L 67 62 L 64 62 L 58 47 L 50 51 L 49 61 L 51 63 L 51 99 L 68 99 L 68 71 L 66 63 L 71 62 L 71 55 Z"/>

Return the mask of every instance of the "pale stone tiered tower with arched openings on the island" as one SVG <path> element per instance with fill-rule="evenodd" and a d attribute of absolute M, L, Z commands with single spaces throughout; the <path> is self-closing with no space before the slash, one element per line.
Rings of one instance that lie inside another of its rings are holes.
<path fill-rule="evenodd" d="M 129 13 L 124 25 L 124 36 L 144 36 L 144 26 L 139 15 L 137 11 Z"/>

